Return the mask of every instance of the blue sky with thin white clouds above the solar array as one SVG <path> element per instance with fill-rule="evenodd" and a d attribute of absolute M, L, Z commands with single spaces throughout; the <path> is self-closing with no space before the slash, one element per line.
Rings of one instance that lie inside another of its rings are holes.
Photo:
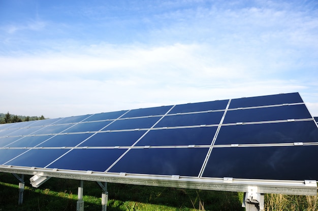
<path fill-rule="evenodd" d="M 0 0 L 0 73 L 0 113 L 299 92 L 318 116 L 318 2 Z"/>

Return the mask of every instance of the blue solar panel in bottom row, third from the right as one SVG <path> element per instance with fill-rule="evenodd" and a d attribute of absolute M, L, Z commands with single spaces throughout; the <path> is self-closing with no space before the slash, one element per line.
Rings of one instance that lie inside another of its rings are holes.
<path fill-rule="evenodd" d="M 74 149 L 48 168 L 104 172 L 127 149 Z"/>

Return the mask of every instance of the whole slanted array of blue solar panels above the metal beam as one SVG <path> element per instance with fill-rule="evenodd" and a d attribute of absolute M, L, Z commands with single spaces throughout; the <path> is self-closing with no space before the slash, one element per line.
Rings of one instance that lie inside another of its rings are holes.
<path fill-rule="evenodd" d="M 0 125 L 0 165 L 318 180 L 318 128 L 298 93 Z"/>

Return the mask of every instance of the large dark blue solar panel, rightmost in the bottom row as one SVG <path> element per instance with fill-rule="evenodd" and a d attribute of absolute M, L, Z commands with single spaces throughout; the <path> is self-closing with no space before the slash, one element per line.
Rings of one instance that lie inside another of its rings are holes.
<path fill-rule="evenodd" d="M 203 177 L 318 180 L 317 152 L 318 146 L 213 148 Z"/>

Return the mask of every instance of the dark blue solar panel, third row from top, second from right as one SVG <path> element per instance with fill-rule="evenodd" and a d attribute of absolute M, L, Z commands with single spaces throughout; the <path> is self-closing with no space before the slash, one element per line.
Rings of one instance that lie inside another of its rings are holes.
<path fill-rule="evenodd" d="M 136 146 L 210 145 L 217 127 L 150 130 Z"/>

